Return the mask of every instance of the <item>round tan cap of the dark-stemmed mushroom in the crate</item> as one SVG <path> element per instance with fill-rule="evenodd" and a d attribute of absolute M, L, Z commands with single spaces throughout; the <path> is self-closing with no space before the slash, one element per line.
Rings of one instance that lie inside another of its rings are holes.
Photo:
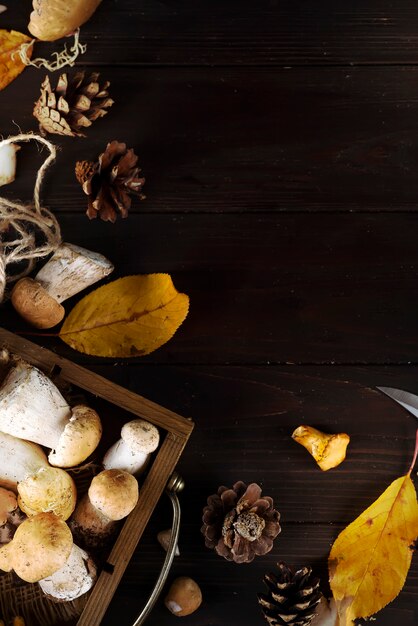
<path fill-rule="evenodd" d="M 124 470 L 100 472 L 89 487 L 91 504 L 110 520 L 123 519 L 138 502 L 138 481 Z"/>

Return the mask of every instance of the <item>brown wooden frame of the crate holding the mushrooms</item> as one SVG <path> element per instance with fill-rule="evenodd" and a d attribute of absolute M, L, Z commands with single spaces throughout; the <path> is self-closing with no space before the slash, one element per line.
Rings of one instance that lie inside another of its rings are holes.
<path fill-rule="evenodd" d="M 163 493 L 179 457 L 193 430 L 194 424 L 168 409 L 151 402 L 88 369 L 72 363 L 53 352 L 41 348 L 26 339 L 0 328 L 0 346 L 42 369 L 45 373 L 54 372 L 60 381 L 69 383 L 93 396 L 104 400 L 108 406 L 131 414 L 128 419 L 141 417 L 165 431 L 161 444 L 146 472 L 140 487 L 139 502 L 128 516 L 120 534 L 106 559 L 105 567 L 90 592 L 87 603 L 77 626 L 98 626 L 115 593 L 120 579 L 142 536 L 148 520 Z M 93 405 L 93 408 L 94 405 Z M 101 414 L 103 430 L 106 432 L 106 418 Z M 128 420 L 126 420 L 128 421 Z M 120 431 L 121 423 L 118 422 Z M 138 607 L 138 612 L 141 607 Z"/>

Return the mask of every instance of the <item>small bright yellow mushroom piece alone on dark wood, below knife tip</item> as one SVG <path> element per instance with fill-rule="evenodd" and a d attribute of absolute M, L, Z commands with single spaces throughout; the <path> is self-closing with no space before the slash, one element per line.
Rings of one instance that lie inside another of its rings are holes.
<path fill-rule="evenodd" d="M 328 435 L 312 426 L 299 426 L 292 438 L 312 454 L 321 470 L 337 467 L 345 459 L 350 437 L 346 433 Z"/>

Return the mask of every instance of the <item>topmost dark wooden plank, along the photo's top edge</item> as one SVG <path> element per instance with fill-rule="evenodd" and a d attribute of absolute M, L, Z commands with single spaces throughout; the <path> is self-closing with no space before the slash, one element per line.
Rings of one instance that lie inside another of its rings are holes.
<path fill-rule="evenodd" d="M 10 2 L 2 23 L 25 32 L 29 7 Z M 413 0 L 105 0 L 80 64 L 417 63 L 417 18 Z"/>

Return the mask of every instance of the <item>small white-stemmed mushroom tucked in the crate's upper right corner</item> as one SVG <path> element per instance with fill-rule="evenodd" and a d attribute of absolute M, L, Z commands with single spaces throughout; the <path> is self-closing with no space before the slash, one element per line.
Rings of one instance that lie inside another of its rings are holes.
<path fill-rule="evenodd" d="M 146 468 L 159 441 L 160 435 L 153 424 L 141 419 L 128 422 L 122 427 L 121 438 L 106 452 L 103 467 L 138 475 Z"/>

